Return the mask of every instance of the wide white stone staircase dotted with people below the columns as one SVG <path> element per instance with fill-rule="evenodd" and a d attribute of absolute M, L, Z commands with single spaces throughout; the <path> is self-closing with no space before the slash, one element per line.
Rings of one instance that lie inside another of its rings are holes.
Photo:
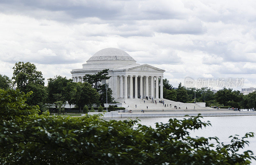
<path fill-rule="evenodd" d="M 156 103 L 155 103 L 156 100 Z M 167 99 L 154 99 L 154 103 L 152 100 L 145 100 L 145 99 L 127 99 L 127 98 L 116 98 L 115 101 L 124 103 L 123 107 L 128 110 L 132 110 L 132 112 L 141 112 L 141 109 L 147 110 L 147 112 L 184 112 L 184 111 L 217 111 L 217 109 L 212 109 L 209 107 L 200 107 L 195 103 L 183 103 L 183 102 L 176 102 Z M 145 103 L 144 103 L 145 101 Z M 159 101 L 164 101 L 163 103 L 159 103 Z M 165 106 L 166 105 L 166 106 Z M 177 109 L 174 108 L 177 106 Z M 148 107 L 148 109 L 147 109 Z M 187 107 L 187 109 L 186 109 Z M 195 107 L 195 109 L 194 109 Z M 180 109 L 179 109 L 180 108 Z"/>

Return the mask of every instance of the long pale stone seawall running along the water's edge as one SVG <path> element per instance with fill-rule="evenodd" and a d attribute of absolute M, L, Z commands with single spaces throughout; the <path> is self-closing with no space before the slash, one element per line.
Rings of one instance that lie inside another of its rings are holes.
<path fill-rule="evenodd" d="M 111 112 L 88 112 L 89 115 L 103 114 L 101 118 L 116 118 L 116 117 L 184 117 L 188 116 L 256 116 L 256 111 L 191 111 L 191 112 L 135 112 L 135 113 L 118 113 Z"/>

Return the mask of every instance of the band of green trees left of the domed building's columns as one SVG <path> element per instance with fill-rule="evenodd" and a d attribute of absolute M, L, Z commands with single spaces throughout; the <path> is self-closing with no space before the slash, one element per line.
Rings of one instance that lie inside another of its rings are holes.
<path fill-rule="evenodd" d="M 86 109 L 92 104 L 104 107 L 106 102 L 106 85 L 97 84 L 97 82 L 110 78 L 108 69 L 94 75 L 85 75 L 84 79 L 87 81 L 84 83 L 75 83 L 72 79 L 57 75 L 47 79 L 47 86 L 44 86 L 43 74 L 37 71 L 35 64 L 18 62 L 12 69 L 12 79 L 0 74 L 0 88 L 8 89 L 16 86 L 16 89 L 24 93 L 32 91 L 26 103 L 30 106 L 38 105 L 42 111 L 49 107 L 63 109 L 68 103 L 69 105 L 75 104 L 81 112 L 82 108 Z M 108 102 L 112 102 L 112 90 L 108 88 L 107 91 Z"/>

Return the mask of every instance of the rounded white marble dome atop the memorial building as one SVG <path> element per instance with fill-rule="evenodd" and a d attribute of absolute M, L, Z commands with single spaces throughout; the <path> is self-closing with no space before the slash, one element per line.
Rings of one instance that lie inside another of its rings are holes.
<path fill-rule="evenodd" d="M 89 61 L 135 61 L 124 50 L 117 48 L 105 48 L 96 52 Z"/>

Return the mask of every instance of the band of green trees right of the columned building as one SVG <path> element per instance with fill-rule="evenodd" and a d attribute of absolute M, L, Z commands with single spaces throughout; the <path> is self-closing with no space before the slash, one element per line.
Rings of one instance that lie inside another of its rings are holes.
<path fill-rule="evenodd" d="M 163 79 L 163 97 L 164 99 L 187 103 L 193 103 L 195 101 L 205 102 L 208 107 L 256 108 L 256 92 L 244 95 L 238 90 L 223 87 L 214 94 L 212 88 L 186 88 L 181 83 L 177 89 L 174 89 L 168 79 Z"/>

